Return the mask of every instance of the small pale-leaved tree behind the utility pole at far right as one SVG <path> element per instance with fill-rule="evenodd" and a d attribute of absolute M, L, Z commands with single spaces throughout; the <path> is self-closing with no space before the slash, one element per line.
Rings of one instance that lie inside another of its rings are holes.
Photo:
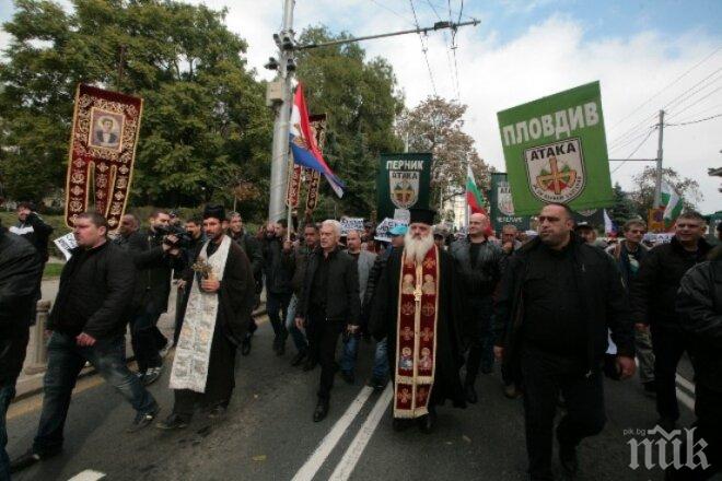
<path fill-rule="evenodd" d="M 704 199 L 697 180 L 683 177 L 674 168 L 668 167 L 662 169 L 662 176 L 682 196 L 685 210 L 695 209 L 697 203 Z M 652 166 L 644 167 L 641 174 L 632 177 L 636 188 L 630 196 L 637 213 L 642 219 L 648 218 L 648 211 L 654 203 L 655 179 L 656 168 Z"/>

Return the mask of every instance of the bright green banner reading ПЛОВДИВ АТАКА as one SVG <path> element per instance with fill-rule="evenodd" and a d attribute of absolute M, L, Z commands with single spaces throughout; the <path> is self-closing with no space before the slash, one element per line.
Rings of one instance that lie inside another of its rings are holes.
<path fill-rule="evenodd" d="M 599 82 L 497 114 L 516 214 L 614 203 Z"/>

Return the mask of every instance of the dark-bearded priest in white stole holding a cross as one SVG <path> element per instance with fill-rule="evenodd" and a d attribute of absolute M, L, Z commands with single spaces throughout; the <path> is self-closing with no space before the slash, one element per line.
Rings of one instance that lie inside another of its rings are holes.
<path fill-rule="evenodd" d="M 206 207 L 208 241 L 184 274 L 189 295 L 171 372 L 175 403 L 158 424 L 162 430 L 187 426 L 198 404 L 209 409 L 209 418 L 222 417 L 233 394 L 235 352 L 251 324 L 255 283 L 248 258 L 225 235 L 224 223 L 222 206 Z"/>

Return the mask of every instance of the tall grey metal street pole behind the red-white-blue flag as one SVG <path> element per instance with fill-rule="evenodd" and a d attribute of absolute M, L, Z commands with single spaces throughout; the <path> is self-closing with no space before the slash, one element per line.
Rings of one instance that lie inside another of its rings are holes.
<path fill-rule="evenodd" d="M 293 38 L 293 7 L 295 0 L 283 1 L 283 27 L 280 39 Z M 286 181 L 289 159 L 289 121 L 291 119 L 291 74 L 288 71 L 289 60 L 293 58 L 293 48 L 284 48 L 283 42 L 278 42 L 278 77 L 281 81 L 281 102 L 276 110 L 273 122 L 273 149 L 270 177 L 270 201 L 268 202 L 268 220 L 271 222 L 284 218 Z M 290 226 L 289 226 L 290 227 Z"/>

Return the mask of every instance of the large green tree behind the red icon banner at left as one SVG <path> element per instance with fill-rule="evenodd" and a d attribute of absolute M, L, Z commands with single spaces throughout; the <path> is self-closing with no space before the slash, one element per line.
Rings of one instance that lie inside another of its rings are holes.
<path fill-rule="evenodd" d="M 62 187 L 78 83 L 144 98 L 130 201 L 232 197 L 243 171 L 267 191 L 270 113 L 225 10 L 172 0 L 16 0 L 0 63 L 0 171 L 14 198 Z M 123 78 L 117 75 L 120 51 Z M 251 203 L 249 209 L 259 207 Z"/>

